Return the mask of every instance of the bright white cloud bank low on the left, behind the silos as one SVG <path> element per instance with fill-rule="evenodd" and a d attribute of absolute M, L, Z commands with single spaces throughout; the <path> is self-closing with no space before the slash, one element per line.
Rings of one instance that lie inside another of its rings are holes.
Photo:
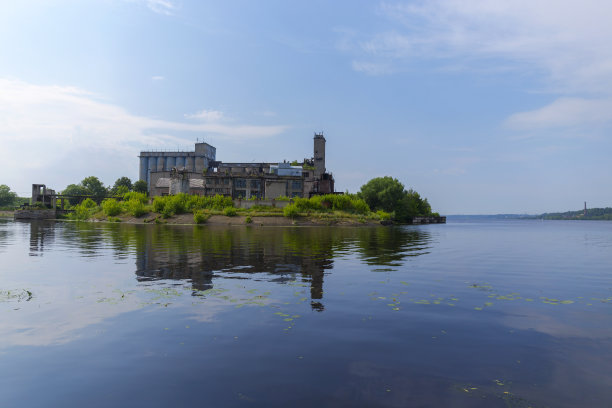
<path fill-rule="evenodd" d="M 60 189 L 88 175 L 100 175 L 107 183 L 121 175 L 135 178 L 136 156 L 144 149 L 189 146 L 203 135 L 267 138 L 286 129 L 152 119 L 82 89 L 0 78 L 0 163 L 3 169 L 19 169 L 1 172 L 0 184 L 21 192 L 34 182 Z"/>

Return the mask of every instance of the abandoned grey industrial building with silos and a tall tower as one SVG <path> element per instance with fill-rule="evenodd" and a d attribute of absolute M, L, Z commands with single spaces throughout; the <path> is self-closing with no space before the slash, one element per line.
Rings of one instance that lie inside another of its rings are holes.
<path fill-rule="evenodd" d="M 141 152 L 140 180 L 151 197 L 187 193 L 242 199 L 311 197 L 334 192 L 325 168 L 325 137 L 315 133 L 314 155 L 302 163 L 223 163 L 217 149 L 196 143 L 193 152 Z"/>

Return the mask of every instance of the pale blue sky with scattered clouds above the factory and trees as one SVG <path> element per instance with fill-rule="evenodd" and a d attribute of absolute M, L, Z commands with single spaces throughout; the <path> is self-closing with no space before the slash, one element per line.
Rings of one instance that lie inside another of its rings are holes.
<path fill-rule="evenodd" d="M 0 184 L 138 154 L 392 176 L 441 214 L 612 206 L 612 3 L 21 0 L 0 13 Z"/>

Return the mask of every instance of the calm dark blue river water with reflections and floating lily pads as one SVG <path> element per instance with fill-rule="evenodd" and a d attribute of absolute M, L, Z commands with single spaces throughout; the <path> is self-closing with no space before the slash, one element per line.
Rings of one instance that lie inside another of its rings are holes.
<path fill-rule="evenodd" d="M 0 220 L 0 406 L 610 407 L 612 223 Z"/>

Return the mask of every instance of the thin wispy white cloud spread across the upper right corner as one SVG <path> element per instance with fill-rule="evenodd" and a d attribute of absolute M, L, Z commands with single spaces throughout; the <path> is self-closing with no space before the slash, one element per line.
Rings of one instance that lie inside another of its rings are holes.
<path fill-rule="evenodd" d="M 399 28 L 361 43 L 394 59 L 463 58 L 471 66 L 511 61 L 544 72 L 557 88 L 612 92 L 612 3 L 597 0 L 428 0 L 382 5 Z"/>

